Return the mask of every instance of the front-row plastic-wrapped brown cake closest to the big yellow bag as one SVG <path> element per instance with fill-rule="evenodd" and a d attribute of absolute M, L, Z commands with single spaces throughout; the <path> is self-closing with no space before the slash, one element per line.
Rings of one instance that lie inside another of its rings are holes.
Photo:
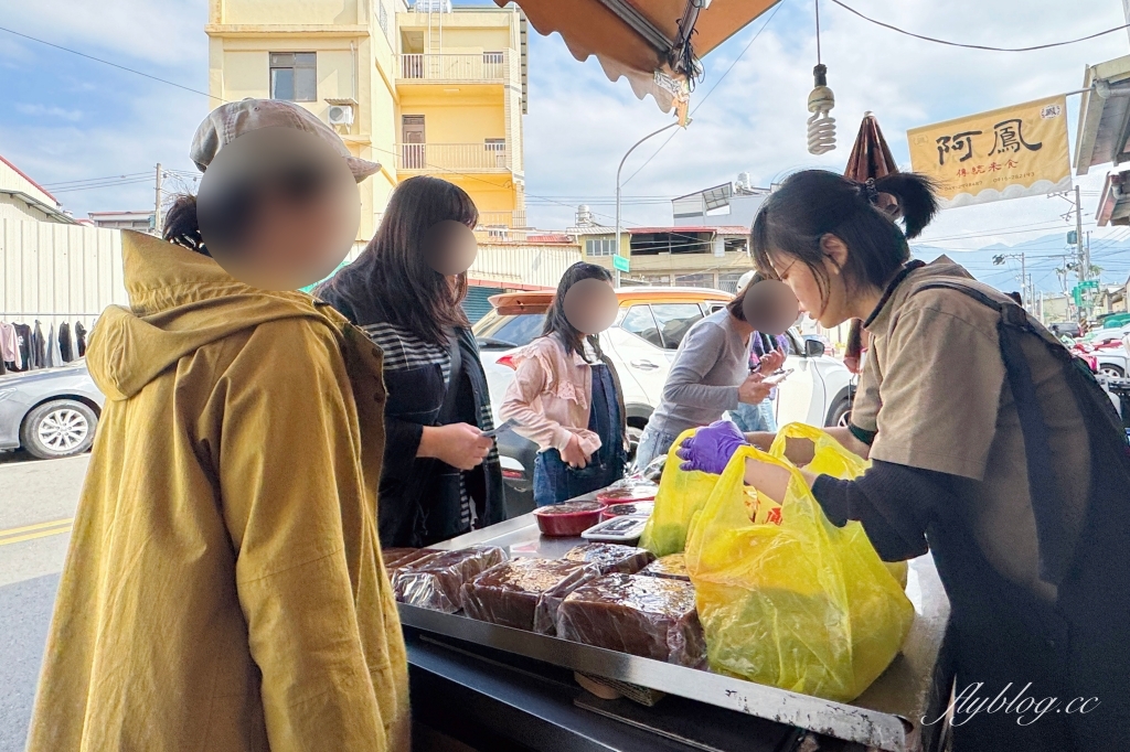
<path fill-rule="evenodd" d="M 557 636 L 681 666 L 706 661 L 694 587 L 663 577 L 608 575 L 576 588 L 557 609 Z"/>

